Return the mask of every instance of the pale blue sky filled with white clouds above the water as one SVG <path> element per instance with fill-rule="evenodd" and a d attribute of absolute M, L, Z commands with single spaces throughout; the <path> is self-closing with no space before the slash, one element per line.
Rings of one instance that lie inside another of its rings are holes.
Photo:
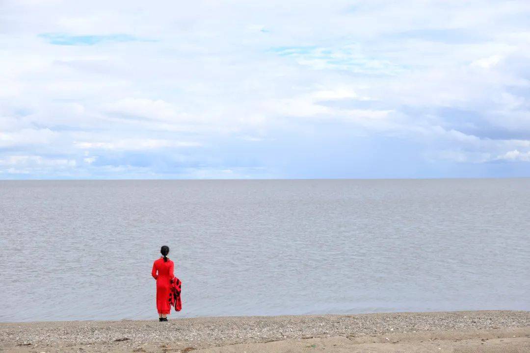
<path fill-rule="evenodd" d="M 527 0 L 0 0 L 0 179 L 529 176 Z"/>

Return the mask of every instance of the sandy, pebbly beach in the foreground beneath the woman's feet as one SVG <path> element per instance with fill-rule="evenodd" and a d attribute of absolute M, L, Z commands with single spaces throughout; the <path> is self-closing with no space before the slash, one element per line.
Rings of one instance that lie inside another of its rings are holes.
<path fill-rule="evenodd" d="M 175 315 L 172 315 L 175 316 Z M 0 323 L 2 352 L 523 352 L 530 312 Z"/>

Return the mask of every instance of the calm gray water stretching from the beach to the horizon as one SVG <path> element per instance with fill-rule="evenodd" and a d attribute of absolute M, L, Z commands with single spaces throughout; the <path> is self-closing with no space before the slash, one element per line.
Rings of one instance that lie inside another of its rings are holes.
<path fill-rule="evenodd" d="M 0 321 L 530 310 L 530 179 L 0 181 Z"/>

